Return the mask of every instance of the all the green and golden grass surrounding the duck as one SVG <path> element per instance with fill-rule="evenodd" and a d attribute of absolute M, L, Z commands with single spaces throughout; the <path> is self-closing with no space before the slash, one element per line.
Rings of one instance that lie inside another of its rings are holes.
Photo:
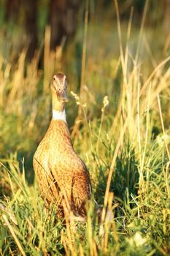
<path fill-rule="evenodd" d="M 65 57 L 62 46 L 50 53 L 49 28 L 42 70 L 40 52 L 30 64 L 24 49 L 16 63 L 1 54 L 0 255 L 170 254 L 169 52 L 155 59 L 144 22 L 132 47 L 132 13 L 123 24 L 126 37 L 118 12 L 117 20 L 118 37 L 107 40 L 117 40 L 120 54 L 114 58 L 112 44 L 97 45 L 96 24 L 86 21 L 82 80 L 76 75 L 81 63 L 76 43 Z M 102 209 L 98 220 L 91 200 L 85 223 L 63 223 L 53 206 L 45 210 L 31 164 L 50 121 L 49 82 L 63 61 L 74 91 L 66 107 L 74 148 L 88 166 Z"/>

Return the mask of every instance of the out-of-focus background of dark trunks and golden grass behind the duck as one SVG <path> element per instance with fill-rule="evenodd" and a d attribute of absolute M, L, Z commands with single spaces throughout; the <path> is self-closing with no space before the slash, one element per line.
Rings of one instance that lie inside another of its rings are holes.
<path fill-rule="evenodd" d="M 121 38 L 111 0 L 0 0 L 0 153 L 7 157 L 18 152 L 18 159 L 25 157 L 28 176 L 32 176 L 36 146 L 50 122 L 49 85 L 54 72 L 66 73 L 69 94 L 81 94 L 87 120 L 94 127 L 108 95 L 109 127 L 124 83 L 121 44 L 125 50 L 128 42 L 128 74 L 136 61 L 141 83 L 169 56 L 170 1 L 119 0 L 117 4 Z M 72 131 L 78 105 L 71 99 L 67 120 Z M 168 106 L 169 97 L 163 101 L 166 128 Z M 156 108 L 152 120 L 152 132 L 157 135 L 161 123 Z M 79 128 L 83 131 L 83 121 Z M 85 152 L 89 146 L 84 141 Z"/>

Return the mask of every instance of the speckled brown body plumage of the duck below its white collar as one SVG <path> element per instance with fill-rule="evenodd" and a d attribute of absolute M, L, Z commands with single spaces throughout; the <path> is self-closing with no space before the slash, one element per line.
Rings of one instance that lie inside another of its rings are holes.
<path fill-rule="evenodd" d="M 91 193 L 90 176 L 85 163 L 74 151 L 66 121 L 50 122 L 45 137 L 36 149 L 33 163 L 46 206 L 61 198 L 61 209 L 64 199 L 74 215 L 85 217 L 85 201 L 90 199 Z"/>

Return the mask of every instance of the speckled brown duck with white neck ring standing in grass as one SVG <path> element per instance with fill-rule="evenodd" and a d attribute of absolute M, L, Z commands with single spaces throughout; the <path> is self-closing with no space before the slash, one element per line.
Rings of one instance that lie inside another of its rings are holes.
<path fill-rule="evenodd" d="M 91 197 L 90 174 L 74 150 L 66 121 L 66 75 L 58 72 L 50 83 L 53 117 L 33 159 L 36 181 L 46 208 L 58 203 L 58 216 L 87 217 Z"/>

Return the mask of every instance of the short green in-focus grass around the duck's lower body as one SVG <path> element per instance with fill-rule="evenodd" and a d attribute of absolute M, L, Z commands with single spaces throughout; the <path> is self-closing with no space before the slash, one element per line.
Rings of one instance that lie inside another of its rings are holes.
<path fill-rule="evenodd" d="M 106 157 L 100 158 L 95 153 L 88 156 L 93 158 L 93 164 L 88 163 L 93 177 L 93 197 L 100 205 L 104 200 L 109 170 L 107 154 L 111 155 L 111 162 L 114 144 L 111 143 L 110 148 L 104 147 Z M 20 247 L 26 254 L 35 255 L 39 252 L 62 255 L 64 251 L 67 255 L 168 255 L 169 160 L 163 136 L 147 147 L 143 167 L 144 193 L 138 190 L 138 154 L 133 145 L 123 143 L 112 176 L 110 191 L 115 196 L 109 192 L 103 224 L 98 222 L 93 203 L 87 223 L 63 224 L 56 218 L 55 208 L 45 211 L 36 184 L 28 186 L 24 169 L 20 173 L 16 156 L 1 159 L 1 181 L 8 185 L 10 195 L 4 197 L 0 205 L 3 206 L 2 255 L 10 252 L 22 254 Z"/>

